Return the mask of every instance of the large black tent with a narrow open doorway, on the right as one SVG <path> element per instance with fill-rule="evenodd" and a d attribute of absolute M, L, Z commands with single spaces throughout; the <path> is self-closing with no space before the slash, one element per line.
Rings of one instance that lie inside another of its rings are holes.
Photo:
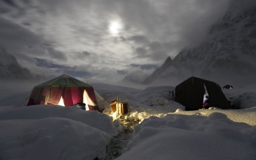
<path fill-rule="evenodd" d="M 207 90 L 210 107 L 231 109 L 221 87 L 212 81 L 190 77 L 175 87 L 175 102 L 186 107 L 186 111 L 202 108 L 204 93 Z"/>

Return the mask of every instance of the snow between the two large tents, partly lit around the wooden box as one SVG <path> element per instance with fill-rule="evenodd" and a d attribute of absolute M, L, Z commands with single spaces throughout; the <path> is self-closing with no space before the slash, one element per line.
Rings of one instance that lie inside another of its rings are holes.
<path fill-rule="evenodd" d="M 149 116 L 175 112 L 178 108 L 185 110 L 184 106 L 170 100 L 172 95 L 169 97 L 169 90 L 174 90 L 172 86 L 153 86 L 144 90 L 109 84 L 93 84 L 93 87 L 109 103 L 117 96 L 128 102 L 128 113 L 122 116 L 125 119 L 142 121 Z M 115 118 L 116 114 L 110 111 L 112 109 L 109 106 L 103 112 Z"/>

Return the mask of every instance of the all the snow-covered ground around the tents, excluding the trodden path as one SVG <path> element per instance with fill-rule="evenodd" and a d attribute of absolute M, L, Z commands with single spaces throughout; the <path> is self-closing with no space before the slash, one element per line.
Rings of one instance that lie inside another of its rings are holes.
<path fill-rule="evenodd" d="M 244 109 L 198 111 L 184 111 L 169 100 L 172 86 L 93 87 L 105 99 L 103 113 L 75 106 L 24 107 L 13 96 L 0 99 L 0 159 L 111 159 L 106 148 L 124 131 L 109 106 L 116 96 L 128 102 L 129 113 L 122 118 L 140 121 L 118 160 L 256 159 L 255 86 L 224 90 L 234 106 Z"/>

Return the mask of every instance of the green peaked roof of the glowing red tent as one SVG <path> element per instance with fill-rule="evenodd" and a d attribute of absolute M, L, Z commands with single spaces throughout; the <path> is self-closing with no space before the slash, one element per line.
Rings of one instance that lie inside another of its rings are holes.
<path fill-rule="evenodd" d="M 35 87 L 92 87 L 91 85 L 79 81 L 71 76 L 66 74 L 56 77 L 55 79 L 51 79 L 42 84 L 38 84 Z"/>

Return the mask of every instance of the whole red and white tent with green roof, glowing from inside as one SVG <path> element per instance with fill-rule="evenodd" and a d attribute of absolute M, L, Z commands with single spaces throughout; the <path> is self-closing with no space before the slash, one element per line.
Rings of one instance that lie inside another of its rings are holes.
<path fill-rule="evenodd" d="M 86 110 L 98 110 L 93 86 L 66 74 L 35 86 L 27 105 L 72 106 L 84 103 Z"/>

